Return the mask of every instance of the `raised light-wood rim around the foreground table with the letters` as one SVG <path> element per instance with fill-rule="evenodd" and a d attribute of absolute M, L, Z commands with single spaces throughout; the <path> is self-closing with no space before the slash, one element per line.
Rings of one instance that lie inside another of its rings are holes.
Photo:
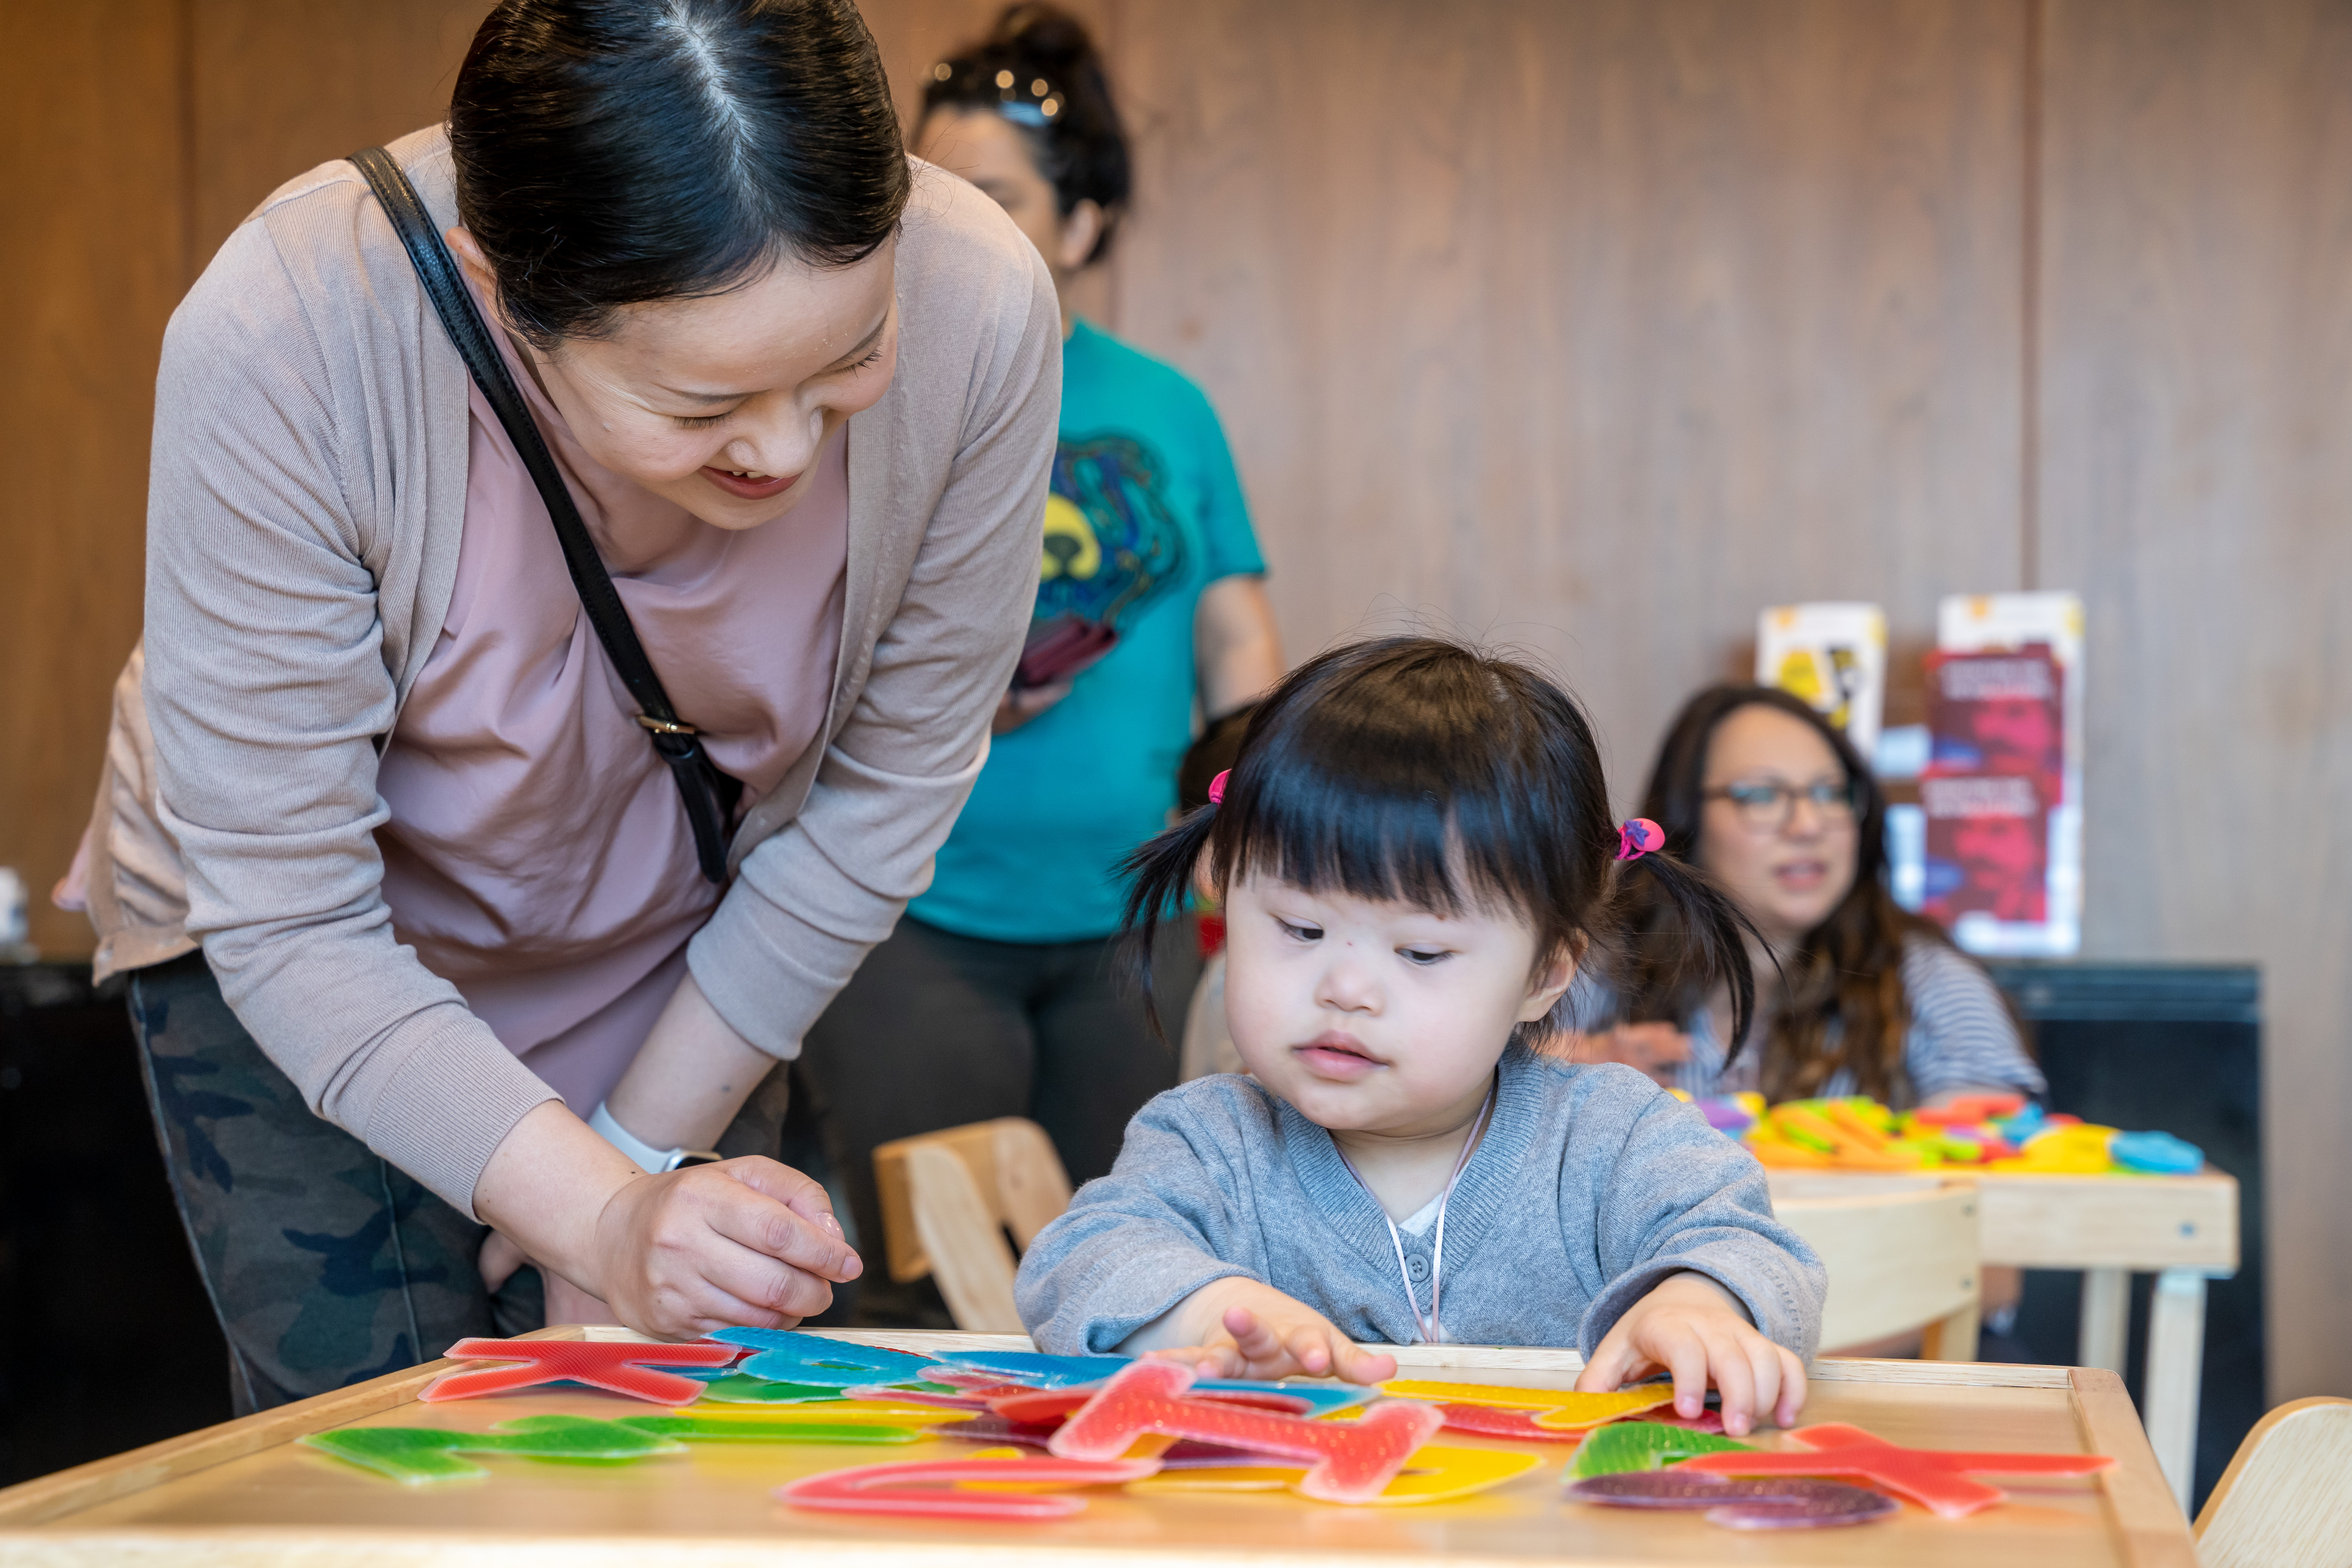
<path fill-rule="evenodd" d="M 903 1349 L 1028 1349 L 1023 1335 L 981 1333 L 854 1333 L 821 1331 L 868 1345 L 894 1345 Z M 529 1338 L 595 1338 L 633 1340 L 623 1328 L 546 1328 Z M 1510 1349 L 1479 1345 L 1439 1347 L 1383 1347 L 1399 1359 L 1399 1375 L 1409 1378 L 1456 1378 L 1477 1380 L 1482 1373 L 1541 1371 L 1571 1373 L 1581 1368 L 1576 1352 L 1559 1349 Z M 1183 1554 L 1162 1547 L 1000 1547 L 983 1542 L 948 1542 L 936 1535 L 903 1542 L 844 1542 L 844 1540 L 795 1540 L 776 1535 L 771 1540 L 741 1537 L 515 1537 L 515 1535 L 445 1535 L 426 1530 L 285 1530 L 285 1528 L 122 1528 L 101 1526 L 75 1530 L 73 1516 L 99 1505 L 134 1497 L 148 1488 L 205 1472 L 230 1460 L 263 1453 L 296 1441 L 308 1432 L 339 1427 L 381 1410 L 412 1403 L 416 1394 L 452 1361 L 430 1361 L 402 1373 L 390 1373 L 334 1394 L 320 1394 L 301 1403 L 263 1410 L 242 1420 L 191 1432 L 179 1439 L 134 1448 L 111 1460 L 96 1460 L 54 1476 L 26 1481 L 0 1490 L 0 1561 L 12 1568 L 87 1568 L 89 1563 L 167 1561 L 167 1563 L 501 1563 L 503 1568 L 644 1568 L 644 1563 L 689 1563 L 694 1568 L 720 1566 L 783 1566 L 804 1568 L 811 1561 L 856 1563 L 858 1568 L 1037 1568 L 1049 1559 L 1054 1568 L 1164 1568 Z M 2197 1549 L 2190 1537 L 2171 1490 L 2157 1469 L 2154 1453 L 2131 1408 L 2131 1396 L 2122 1380 L 2103 1368 L 2053 1368 L 2053 1366 L 1990 1366 L 1966 1361 L 1818 1361 L 1811 1375 L 1820 1385 L 1915 1385 L 1926 1389 L 2065 1389 L 2077 1432 L 2086 1450 L 2112 1453 L 2119 1465 L 2103 1479 L 2105 1521 L 2110 1549 L 2129 1568 L 2197 1568 Z M 1809 1533 L 1802 1533 L 1809 1535 Z M 1846 1535 L 1846 1533 L 1828 1533 Z M 1733 1540 L 1740 1549 L 1731 1549 Z M 1790 1552 L 1773 1549 L 1762 1537 L 1726 1540 L 1726 1561 L 1811 1561 L 1802 1540 L 1780 1537 Z M 811 1549 L 814 1547 L 814 1549 Z M 1279 1552 L 1251 1549 L 1235 1542 L 1235 1556 L 1247 1556 L 1254 1568 L 1334 1568 L 1345 1556 L 1329 1552 Z M 1503 1563 L 1524 1559 L 1498 1556 L 1406 1556 L 1404 1563 L 1428 1568 L 1454 1563 Z M 1555 1559 L 1573 1563 L 1616 1563 L 1630 1559 Z M 1999 1568 L 2039 1568 L 2039 1561 L 2058 1563 L 2063 1556 L 2018 1559 L 2011 1556 Z"/>

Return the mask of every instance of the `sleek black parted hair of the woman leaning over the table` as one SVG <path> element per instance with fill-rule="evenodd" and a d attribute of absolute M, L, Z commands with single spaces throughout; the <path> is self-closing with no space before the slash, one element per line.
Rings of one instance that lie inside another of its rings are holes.
<path fill-rule="evenodd" d="M 456 73 L 449 148 L 459 221 L 541 348 L 783 254 L 849 266 L 908 195 L 849 0 L 503 0 Z"/>

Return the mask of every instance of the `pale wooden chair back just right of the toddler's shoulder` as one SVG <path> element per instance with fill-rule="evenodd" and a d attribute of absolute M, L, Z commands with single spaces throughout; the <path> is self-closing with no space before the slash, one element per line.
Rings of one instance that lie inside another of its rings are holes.
<path fill-rule="evenodd" d="M 1922 1331 L 1929 1361 L 1976 1359 L 1976 1187 L 1773 1199 L 1830 1269 L 1825 1354 Z"/>

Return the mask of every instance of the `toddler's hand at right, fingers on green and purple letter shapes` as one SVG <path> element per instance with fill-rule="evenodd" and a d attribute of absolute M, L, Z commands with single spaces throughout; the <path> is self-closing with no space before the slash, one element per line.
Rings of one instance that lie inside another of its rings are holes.
<path fill-rule="evenodd" d="M 1804 1408 L 1804 1363 L 1757 1333 L 1738 1300 L 1705 1274 L 1672 1274 L 1628 1307 L 1576 1387 L 1604 1394 L 1661 1368 L 1675 1375 L 1682 1418 L 1705 1408 L 1712 1382 L 1731 1436 L 1745 1436 L 1766 1415 L 1792 1427 Z"/>

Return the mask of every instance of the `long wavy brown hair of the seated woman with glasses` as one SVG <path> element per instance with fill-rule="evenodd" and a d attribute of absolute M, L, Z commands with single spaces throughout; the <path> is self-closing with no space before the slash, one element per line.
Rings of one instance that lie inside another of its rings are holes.
<path fill-rule="evenodd" d="M 1708 752 L 1722 722 L 1743 708 L 1785 712 L 1820 736 L 1853 790 L 1856 827 L 1853 886 L 1783 961 L 1780 994 L 1764 1020 L 1764 1098 L 1804 1100 L 1839 1067 L 1851 1067 L 1860 1093 L 1900 1103 L 1907 1098 L 1903 1041 L 1910 1034 L 1903 945 L 1912 938 L 1943 943 L 1945 936 L 1886 891 L 1886 795 L 1853 743 L 1788 691 L 1710 686 L 1684 703 L 1665 731 L 1642 813 L 1665 830 L 1670 853 L 1698 863 Z M 1686 980 L 1668 973 L 1679 924 L 1679 910 L 1661 903 L 1637 912 L 1621 987 L 1628 1018 L 1682 1020 L 1700 1004 Z"/>

